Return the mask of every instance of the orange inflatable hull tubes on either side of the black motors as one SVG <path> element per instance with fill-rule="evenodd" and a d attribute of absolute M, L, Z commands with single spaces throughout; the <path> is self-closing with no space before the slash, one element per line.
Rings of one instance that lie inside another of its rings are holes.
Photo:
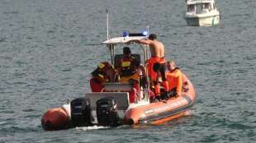
<path fill-rule="evenodd" d="M 159 125 L 174 118 L 183 117 L 187 110 L 196 102 L 196 92 L 191 81 L 183 74 L 183 93 L 179 97 L 173 97 L 154 103 L 146 103 L 130 106 L 124 110 L 119 108 L 118 115 L 121 124 L 153 124 Z M 92 106 L 92 104 L 91 104 Z M 64 104 L 60 108 L 51 108 L 41 118 L 41 124 L 45 130 L 61 130 L 72 126 L 70 104 Z M 92 125 L 97 125 L 97 111 L 92 110 L 95 119 Z"/>

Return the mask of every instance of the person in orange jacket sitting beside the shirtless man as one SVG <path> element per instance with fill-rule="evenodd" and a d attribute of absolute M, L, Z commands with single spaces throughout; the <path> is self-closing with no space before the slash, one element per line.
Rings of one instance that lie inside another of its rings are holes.
<path fill-rule="evenodd" d="M 167 62 L 168 72 L 166 73 L 170 89 L 170 97 L 182 95 L 183 73 L 176 67 L 175 62 Z"/>

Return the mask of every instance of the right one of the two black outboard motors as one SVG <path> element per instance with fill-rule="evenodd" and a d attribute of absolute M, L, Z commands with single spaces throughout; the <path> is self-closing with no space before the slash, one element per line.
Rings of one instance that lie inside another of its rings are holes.
<path fill-rule="evenodd" d="M 116 127 L 120 124 L 116 99 L 104 97 L 97 100 L 97 122 L 101 126 Z"/>

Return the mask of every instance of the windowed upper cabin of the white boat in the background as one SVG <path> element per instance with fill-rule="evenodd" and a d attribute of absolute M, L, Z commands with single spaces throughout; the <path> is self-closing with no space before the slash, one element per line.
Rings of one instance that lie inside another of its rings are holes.
<path fill-rule="evenodd" d="M 190 0 L 187 1 L 187 13 L 204 14 L 216 9 L 213 0 Z"/>

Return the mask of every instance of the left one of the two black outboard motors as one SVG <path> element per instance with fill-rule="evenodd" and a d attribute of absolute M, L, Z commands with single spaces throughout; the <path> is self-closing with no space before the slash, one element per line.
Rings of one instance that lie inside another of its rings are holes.
<path fill-rule="evenodd" d="M 71 101 L 71 122 L 73 127 L 92 126 L 92 109 L 90 100 L 86 98 Z"/>

